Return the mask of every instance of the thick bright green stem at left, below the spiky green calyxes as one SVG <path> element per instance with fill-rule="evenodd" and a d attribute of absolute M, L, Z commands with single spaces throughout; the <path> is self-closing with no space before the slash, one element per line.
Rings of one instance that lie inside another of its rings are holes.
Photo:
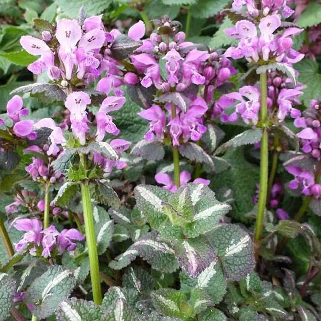
<path fill-rule="evenodd" d="M 102 297 L 99 277 L 99 262 L 88 181 L 82 182 L 80 188 L 82 196 L 83 218 L 85 221 L 86 241 L 89 254 L 92 293 L 94 297 L 94 302 L 97 305 L 101 305 Z"/>

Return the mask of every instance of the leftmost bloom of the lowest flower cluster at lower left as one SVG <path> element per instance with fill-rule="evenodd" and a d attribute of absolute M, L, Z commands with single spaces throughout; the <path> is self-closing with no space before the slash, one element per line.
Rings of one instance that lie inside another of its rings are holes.
<path fill-rule="evenodd" d="M 19 231 L 26 232 L 23 235 L 23 238 L 18 243 L 14 244 L 16 251 L 28 246 L 30 243 L 35 243 L 37 246 L 41 244 L 41 221 L 37 219 L 18 219 L 14 222 L 13 226 Z M 31 253 L 33 253 L 33 251 Z"/>

